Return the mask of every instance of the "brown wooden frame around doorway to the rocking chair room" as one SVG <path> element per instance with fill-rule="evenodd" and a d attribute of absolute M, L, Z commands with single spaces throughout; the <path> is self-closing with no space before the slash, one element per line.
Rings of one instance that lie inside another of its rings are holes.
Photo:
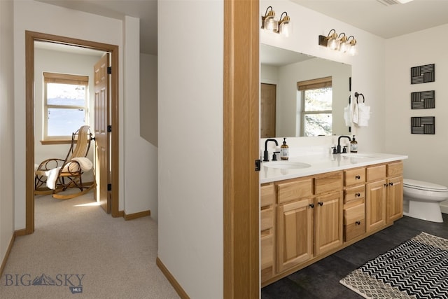
<path fill-rule="evenodd" d="M 26 69 L 26 166 L 25 166 L 25 234 L 34 232 L 34 41 L 46 41 L 50 43 L 61 43 L 68 46 L 102 50 L 111 53 L 111 125 L 113 137 L 111 141 L 111 183 L 114 186 L 111 191 L 111 214 L 113 217 L 121 216 L 118 210 L 118 46 L 81 39 L 71 39 L 65 36 L 44 34 L 41 32 L 25 31 L 25 69 Z"/>

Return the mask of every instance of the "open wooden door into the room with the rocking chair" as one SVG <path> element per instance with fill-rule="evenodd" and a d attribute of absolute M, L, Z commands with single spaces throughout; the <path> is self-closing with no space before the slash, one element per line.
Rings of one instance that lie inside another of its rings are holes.
<path fill-rule="evenodd" d="M 109 196 L 109 53 L 94 65 L 94 132 L 95 132 L 95 181 L 97 202 L 106 213 L 111 212 Z"/>

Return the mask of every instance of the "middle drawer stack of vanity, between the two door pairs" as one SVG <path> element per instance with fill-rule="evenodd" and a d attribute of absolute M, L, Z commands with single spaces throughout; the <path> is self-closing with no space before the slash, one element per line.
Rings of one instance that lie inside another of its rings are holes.
<path fill-rule="evenodd" d="M 365 233 L 365 167 L 344 171 L 344 241 Z"/>

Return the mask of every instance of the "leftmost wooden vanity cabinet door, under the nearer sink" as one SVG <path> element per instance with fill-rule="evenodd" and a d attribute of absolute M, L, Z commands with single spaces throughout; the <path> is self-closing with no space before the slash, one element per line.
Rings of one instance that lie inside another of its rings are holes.
<path fill-rule="evenodd" d="M 277 207 L 277 271 L 313 257 L 312 197 Z"/>

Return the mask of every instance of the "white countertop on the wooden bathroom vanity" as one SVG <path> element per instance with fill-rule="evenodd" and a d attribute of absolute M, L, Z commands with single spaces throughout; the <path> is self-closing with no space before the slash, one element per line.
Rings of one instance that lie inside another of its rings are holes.
<path fill-rule="evenodd" d="M 261 162 L 260 183 L 281 181 L 284 179 L 294 179 L 301 176 L 323 174 L 337 170 L 362 167 L 367 165 L 393 162 L 407 159 L 407 155 L 393 155 L 388 153 L 347 153 L 347 154 L 325 154 L 325 155 L 304 155 L 301 157 L 290 157 L 289 160 L 279 160 L 277 162 L 301 162 L 309 164 L 307 168 L 283 169 L 267 167 L 271 162 Z"/>

